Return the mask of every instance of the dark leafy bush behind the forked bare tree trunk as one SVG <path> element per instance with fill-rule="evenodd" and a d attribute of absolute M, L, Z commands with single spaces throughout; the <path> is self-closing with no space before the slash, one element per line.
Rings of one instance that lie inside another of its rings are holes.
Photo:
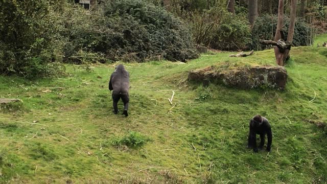
<path fill-rule="evenodd" d="M 283 32 L 285 39 L 287 39 L 288 28 L 290 24 L 290 18 L 284 17 L 284 27 Z M 262 45 L 260 40 L 274 40 L 277 27 L 277 16 L 275 15 L 263 15 L 256 17 L 254 25 L 252 28 L 252 43 L 249 45 L 250 49 L 254 50 L 265 50 L 270 49 L 269 45 Z M 305 20 L 301 18 L 296 18 L 295 20 L 295 29 L 292 45 L 297 46 L 306 46 L 313 43 L 312 29 Z"/>

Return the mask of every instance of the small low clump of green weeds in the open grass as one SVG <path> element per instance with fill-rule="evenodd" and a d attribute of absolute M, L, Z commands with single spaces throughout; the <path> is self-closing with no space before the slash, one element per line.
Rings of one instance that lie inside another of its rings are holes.
<path fill-rule="evenodd" d="M 114 146 L 122 146 L 125 145 L 130 148 L 139 148 L 145 145 L 150 139 L 141 133 L 131 131 L 127 135 L 116 138 L 112 141 Z"/>

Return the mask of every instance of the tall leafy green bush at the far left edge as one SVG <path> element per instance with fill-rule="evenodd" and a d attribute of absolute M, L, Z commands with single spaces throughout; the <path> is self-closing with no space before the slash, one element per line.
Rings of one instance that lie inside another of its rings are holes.
<path fill-rule="evenodd" d="M 0 19 L 0 73 L 33 78 L 64 70 L 61 27 L 49 1 L 2 1 Z"/>

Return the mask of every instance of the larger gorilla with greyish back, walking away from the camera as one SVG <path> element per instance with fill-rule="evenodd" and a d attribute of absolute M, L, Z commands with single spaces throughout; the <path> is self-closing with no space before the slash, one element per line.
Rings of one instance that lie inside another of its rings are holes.
<path fill-rule="evenodd" d="M 129 73 L 125 70 L 124 65 L 120 64 L 115 67 L 114 72 L 110 76 L 109 90 L 112 91 L 113 113 L 118 113 L 118 101 L 122 98 L 124 102 L 124 114 L 128 116 L 128 103 L 129 103 Z"/>

